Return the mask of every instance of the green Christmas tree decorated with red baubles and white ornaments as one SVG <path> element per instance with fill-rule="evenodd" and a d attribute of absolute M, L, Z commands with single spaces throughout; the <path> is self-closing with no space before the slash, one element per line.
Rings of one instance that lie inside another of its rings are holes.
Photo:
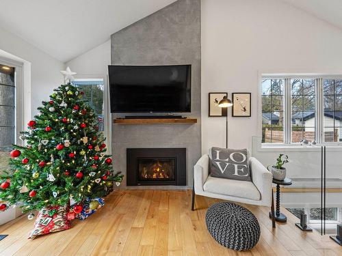
<path fill-rule="evenodd" d="M 68 77 L 67 77 L 68 78 Z M 69 83 L 42 102 L 39 114 L 21 132 L 25 146 L 13 145 L 10 170 L 0 177 L 0 210 L 17 204 L 23 212 L 51 205 L 77 205 L 104 197 L 122 181 L 106 155 L 98 118 Z"/>

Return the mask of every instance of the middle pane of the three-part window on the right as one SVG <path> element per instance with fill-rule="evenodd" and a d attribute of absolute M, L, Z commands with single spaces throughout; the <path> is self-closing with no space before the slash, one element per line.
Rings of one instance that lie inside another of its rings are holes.
<path fill-rule="evenodd" d="M 315 79 L 291 79 L 291 141 L 315 141 Z"/>

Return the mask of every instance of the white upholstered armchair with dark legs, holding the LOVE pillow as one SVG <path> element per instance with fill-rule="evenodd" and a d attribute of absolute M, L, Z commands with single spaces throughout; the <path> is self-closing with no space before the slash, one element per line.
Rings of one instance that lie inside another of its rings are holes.
<path fill-rule="evenodd" d="M 209 156 L 208 154 L 202 156 L 194 166 L 192 210 L 194 210 L 195 195 L 274 208 L 272 173 L 254 157 L 249 158 L 249 163 L 252 182 L 228 180 L 211 177 L 209 174 Z"/>

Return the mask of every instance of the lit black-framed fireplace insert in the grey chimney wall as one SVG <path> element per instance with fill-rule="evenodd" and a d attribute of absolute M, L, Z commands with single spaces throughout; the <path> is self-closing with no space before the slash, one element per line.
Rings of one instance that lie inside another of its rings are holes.
<path fill-rule="evenodd" d="M 185 148 L 128 148 L 127 186 L 186 185 Z"/>

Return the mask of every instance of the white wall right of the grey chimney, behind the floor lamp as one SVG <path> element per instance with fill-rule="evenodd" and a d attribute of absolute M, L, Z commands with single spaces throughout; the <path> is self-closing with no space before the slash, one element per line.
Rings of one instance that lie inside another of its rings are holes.
<path fill-rule="evenodd" d="M 251 148 L 261 136 L 259 74 L 342 74 L 341 42 L 341 29 L 281 1 L 202 0 L 202 152 L 225 145 L 224 117 L 207 114 L 209 91 L 252 93 L 252 117 L 228 120 L 229 147 Z"/>

